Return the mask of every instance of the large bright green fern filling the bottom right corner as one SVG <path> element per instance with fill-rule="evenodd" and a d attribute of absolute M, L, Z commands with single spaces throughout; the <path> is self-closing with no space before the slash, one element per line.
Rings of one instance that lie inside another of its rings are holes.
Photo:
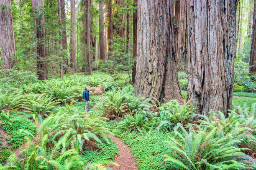
<path fill-rule="evenodd" d="M 164 155 L 165 162 L 172 163 L 177 169 L 184 170 L 213 170 L 213 169 L 246 169 L 256 167 L 241 151 L 247 148 L 236 148 L 240 139 L 231 134 L 225 137 L 215 137 L 217 128 L 210 132 L 199 130 L 197 133 L 190 127 L 185 130 L 182 125 L 174 129 L 175 137 L 166 140 L 169 154 Z"/>

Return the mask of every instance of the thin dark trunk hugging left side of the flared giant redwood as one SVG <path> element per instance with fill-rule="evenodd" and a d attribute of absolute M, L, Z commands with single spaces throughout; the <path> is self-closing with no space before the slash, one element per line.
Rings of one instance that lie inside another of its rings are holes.
<path fill-rule="evenodd" d="M 136 7 L 138 3 L 138 0 L 133 0 L 133 6 Z M 138 9 L 134 10 L 133 12 L 133 58 L 135 59 L 135 62 L 133 64 L 133 72 L 132 72 L 132 79 L 133 84 L 135 83 L 135 77 L 136 77 L 136 58 L 137 58 L 137 20 L 138 20 Z"/>

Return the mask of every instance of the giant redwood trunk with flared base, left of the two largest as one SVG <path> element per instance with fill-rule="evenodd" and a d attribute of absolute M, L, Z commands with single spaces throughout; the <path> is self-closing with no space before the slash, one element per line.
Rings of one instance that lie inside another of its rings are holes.
<path fill-rule="evenodd" d="M 138 42 L 134 95 L 160 102 L 183 100 L 174 47 L 173 0 L 138 1 Z"/>

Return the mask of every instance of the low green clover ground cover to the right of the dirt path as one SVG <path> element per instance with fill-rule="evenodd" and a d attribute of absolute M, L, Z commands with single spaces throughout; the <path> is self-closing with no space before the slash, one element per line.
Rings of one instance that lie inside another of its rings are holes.
<path fill-rule="evenodd" d="M 108 128 L 115 133 L 117 138 L 131 149 L 131 153 L 136 158 L 139 170 L 169 170 L 172 165 L 163 163 L 163 155 L 167 154 L 167 147 L 164 140 L 169 140 L 174 135 L 173 131 L 168 133 L 158 133 L 157 130 L 141 135 L 138 132 L 122 133 L 116 128 L 118 122 L 109 122 Z"/>

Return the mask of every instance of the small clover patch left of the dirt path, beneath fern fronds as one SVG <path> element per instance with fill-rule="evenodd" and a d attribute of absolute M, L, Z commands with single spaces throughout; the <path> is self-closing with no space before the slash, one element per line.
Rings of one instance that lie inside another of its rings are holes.
<path fill-rule="evenodd" d="M 84 150 L 83 151 L 83 157 L 89 162 L 89 163 L 102 163 L 104 164 L 104 161 L 106 160 L 113 160 L 115 156 L 118 154 L 118 147 L 115 145 L 113 141 L 110 142 L 110 144 L 100 144 L 97 143 L 100 149 L 96 150 Z"/>

